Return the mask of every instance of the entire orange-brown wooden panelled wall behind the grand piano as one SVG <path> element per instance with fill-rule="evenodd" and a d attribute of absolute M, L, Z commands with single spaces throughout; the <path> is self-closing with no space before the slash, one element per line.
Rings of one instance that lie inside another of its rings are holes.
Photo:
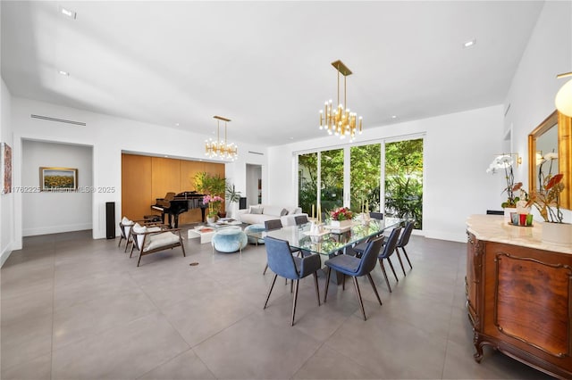
<path fill-rule="evenodd" d="M 224 177 L 224 164 L 122 154 L 120 218 L 143 219 L 144 215 L 156 214 L 151 210 L 156 198 L 163 198 L 169 192 L 177 194 L 196 190 L 194 178 L 201 171 Z M 180 226 L 199 221 L 199 209 L 183 212 L 179 216 Z"/>

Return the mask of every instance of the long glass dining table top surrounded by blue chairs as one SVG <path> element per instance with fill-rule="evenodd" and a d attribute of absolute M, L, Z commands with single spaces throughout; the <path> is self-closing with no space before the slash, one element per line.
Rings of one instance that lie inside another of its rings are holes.
<path fill-rule="evenodd" d="M 385 230 L 398 227 L 404 221 L 405 219 L 400 218 L 370 219 L 367 223 L 354 220 L 348 228 L 340 230 L 324 226 L 320 232 L 312 231 L 311 223 L 287 226 L 271 231 L 246 232 L 248 236 L 255 239 L 272 236 L 288 241 L 292 248 L 331 257 L 345 252 L 347 247 L 363 242 L 368 237 L 380 235 Z"/>

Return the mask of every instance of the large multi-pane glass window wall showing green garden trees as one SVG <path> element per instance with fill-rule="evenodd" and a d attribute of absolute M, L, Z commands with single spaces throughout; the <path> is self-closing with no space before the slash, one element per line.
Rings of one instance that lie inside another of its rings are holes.
<path fill-rule="evenodd" d="M 310 214 L 319 197 L 324 212 L 367 206 L 422 227 L 423 138 L 304 153 L 298 163 L 302 211 Z"/>

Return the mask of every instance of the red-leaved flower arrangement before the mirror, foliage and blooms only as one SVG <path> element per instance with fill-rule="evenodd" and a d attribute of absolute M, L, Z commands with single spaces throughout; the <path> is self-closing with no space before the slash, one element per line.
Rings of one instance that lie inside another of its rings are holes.
<path fill-rule="evenodd" d="M 544 221 L 562 223 L 564 215 L 560 211 L 560 193 L 564 190 L 562 173 L 552 175 L 552 164 L 558 160 L 558 153 L 547 153 L 537 157 L 539 188 L 531 192 L 527 205 L 534 205 Z M 544 165 L 550 162 L 548 173 L 544 174 Z"/>

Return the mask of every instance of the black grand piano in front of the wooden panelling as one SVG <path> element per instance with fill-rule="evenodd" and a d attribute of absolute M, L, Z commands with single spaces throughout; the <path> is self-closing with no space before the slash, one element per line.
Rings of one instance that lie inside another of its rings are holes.
<path fill-rule="evenodd" d="M 179 227 L 179 215 L 192 209 L 200 208 L 202 221 L 205 221 L 207 204 L 203 204 L 203 194 L 195 191 L 186 191 L 179 194 L 167 193 L 164 198 L 156 198 L 156 203 L 151 205 L 151 210 L 161 211 L 161 219 L 164 223 L 164 215 L 169 218 L 169 226 Z"/>

